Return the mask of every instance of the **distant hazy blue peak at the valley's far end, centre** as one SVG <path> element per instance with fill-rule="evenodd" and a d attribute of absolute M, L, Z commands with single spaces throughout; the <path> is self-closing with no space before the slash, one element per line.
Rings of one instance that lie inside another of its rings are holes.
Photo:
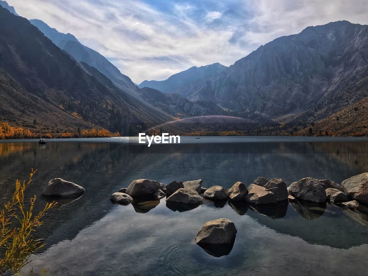
<path fill-rule="evenodd" d="M 213 63 L 206 66 L 193 66 L 188 70 L 172 75 L 164 81 L 142 81 L 139 88 L 149 87 L 164 93 L 179 93 L 186 96 L 192 82 L 203 78 L 211 78 L 217 73 L 227 68 L 220 63 Z"/>

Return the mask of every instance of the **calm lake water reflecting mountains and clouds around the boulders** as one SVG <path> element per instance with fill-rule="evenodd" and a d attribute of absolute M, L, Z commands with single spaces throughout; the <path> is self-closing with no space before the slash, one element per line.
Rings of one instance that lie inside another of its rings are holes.
<path fill-rule="evenodd" d="M 203 187 L 248 185 L 258 176 L 290 185 L 303 177 L 341 183 L 368 171 L 367 138 L 181 137 L 181 144 L 138 145 L 137 139 L 0 141 L 0 203 L 15 180 L 38 169 L 28 196 L 61 177 L 82 185 L 61 201 L 36 236 L 47 245 L 20 275 L 367 275 L 368 213 L 329 205 L 255 207 L 204 201 L 178 212 L 165 199 L 113 205 L 109 197 L 132 180 L 203 179 Z M 228 255 L 194 243 L 202 225 L 227 218 L 238 230 Z"/>

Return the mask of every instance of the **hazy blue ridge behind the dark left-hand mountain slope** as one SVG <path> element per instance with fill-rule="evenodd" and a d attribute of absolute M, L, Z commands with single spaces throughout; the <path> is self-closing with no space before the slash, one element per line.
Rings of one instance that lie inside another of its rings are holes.
<path fill-rule="evenodd" d="M 121 74 L 118 68 L 100 53 L 80 43 L 74 35 L 61 33 L 38 19 L 31 19 L 29 22 L 43 32 L 56 46 L 68 52 L 75 60 L 83 61 L 97 68 L 102 74 L 111 79 L 118 88 L 136 96 L 138 88 L 128 76 Z"/>

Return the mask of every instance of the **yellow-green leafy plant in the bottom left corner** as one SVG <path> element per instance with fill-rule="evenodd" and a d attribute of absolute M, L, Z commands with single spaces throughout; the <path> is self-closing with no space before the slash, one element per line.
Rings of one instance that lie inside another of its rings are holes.
<path fill-rule="evenodd" d="M 47 203 L 42 211 L 33 215 L 36 202 L 36 195 L 34 195 L 29 200 L 29 208 L 26 208 L 24 191 L 31 185 L 36 171 L 32 169 L 27 183 L 25 180 L 23 183 L 16 181 L 13 198 L 0 211 L 0 273 L 18 272 L 28 263 L 29 256 L 45 245 L 42 240 L 34 240 L 32 232 L 43 224 L 42 217 L 56 203 Z"/>

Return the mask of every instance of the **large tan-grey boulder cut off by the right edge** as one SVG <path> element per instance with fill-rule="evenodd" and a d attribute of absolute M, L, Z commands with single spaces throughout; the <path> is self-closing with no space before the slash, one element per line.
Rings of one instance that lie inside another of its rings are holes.
<path fill-rule="evenodd" d="M 352 176 L 344 180 L 341 185 L 349 198 L 368 204 L 368 173 Z"/>

